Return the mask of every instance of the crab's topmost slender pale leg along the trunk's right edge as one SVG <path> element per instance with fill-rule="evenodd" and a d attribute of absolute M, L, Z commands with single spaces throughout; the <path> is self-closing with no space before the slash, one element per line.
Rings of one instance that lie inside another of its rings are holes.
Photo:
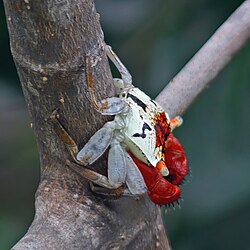
<path fill-rule="evenodd" d="M 113 64 L 116 66 L 116 68 L 120 72 L 125 87 L 132 86 L 132 76 L 130 75 L 129 71 L 124 66 L 124 64 L 121 62 L 119 57 L 115 54 L 112 48 L 108 45 L 105 45 L 105 51 L 109 59 L 113 62 Z"/>

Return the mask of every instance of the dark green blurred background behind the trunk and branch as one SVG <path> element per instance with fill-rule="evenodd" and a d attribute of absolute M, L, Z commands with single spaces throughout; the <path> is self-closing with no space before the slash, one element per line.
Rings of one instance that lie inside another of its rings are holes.
<path fill-rule="evenodd" d="M 96 0 L 106 42 L 155 98 L 243 2 Z M 34 216 L 39 156 L 0 2 L 0 249 Z M 184 114 L 175 131 L 192 174 L 181 209 L 162 208 L 174 250 L 250 249 L 250 44 Z M 195 77 L 195 76 L 194 76 Z"/>

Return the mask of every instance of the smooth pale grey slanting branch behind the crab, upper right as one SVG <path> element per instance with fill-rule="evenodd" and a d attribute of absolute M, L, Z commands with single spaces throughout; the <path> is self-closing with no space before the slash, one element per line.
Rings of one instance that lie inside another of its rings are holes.
<path fill-rule="evenodd" d="M 246 0 L 167 84 L 156 101 L 170 117 L 183 114 L 250 38 L 250 0 Z"/>

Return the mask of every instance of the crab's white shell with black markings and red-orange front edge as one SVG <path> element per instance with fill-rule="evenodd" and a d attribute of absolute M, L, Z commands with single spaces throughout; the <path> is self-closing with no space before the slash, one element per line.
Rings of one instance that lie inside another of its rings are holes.
<path fill-rule="evenodd" d="M 138 88 L 129 88 L 120 94 L 121 98 L 129 105 L 126 114 L 126 127 L 124 129 L 125 141 L 128 151 L 140 161 L 156 167 L 157 163 L 164 160 L 163 147 L 165 139 L 159 143 L 156 129 L 157 117 L 163 114 L 168 132 L 170 133 L 170 119 L 162 107 Z M 162 130 L 161 130 L 162 131 Z"/>

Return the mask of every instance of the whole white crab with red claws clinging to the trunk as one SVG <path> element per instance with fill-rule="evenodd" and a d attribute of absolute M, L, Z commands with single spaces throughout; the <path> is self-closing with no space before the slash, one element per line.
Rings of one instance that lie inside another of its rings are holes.
<path fill-rule="evenodd" d="M 121 79 L 113 79 L 116 96 L 97 101 L 93 87 L 93 66 L 88 56 L 86 81 L 96 111 L 114 116 L 114 119 L 96 131 L 80 151 L 61 125 L 57 111 L 51 115 L 55 131 L 66 144 L 75 163 L 84 166 L 82 175 L 99 187 L 122 189 L 121 194 L 127 195 L 148 192 L 156 204 L 172 203 L 180 197 L 178 185 L 188 171 L 183 147 L 172 134 L 173 129 L 182 124 L 182 118 L 177 116 L 170 119 L 159 104 L 133 86 L 130 73 L 112 48 L 107 45 L 104 48 L 121 74 Z M 86 168 L 106 150 L 107 177 Z"/>

